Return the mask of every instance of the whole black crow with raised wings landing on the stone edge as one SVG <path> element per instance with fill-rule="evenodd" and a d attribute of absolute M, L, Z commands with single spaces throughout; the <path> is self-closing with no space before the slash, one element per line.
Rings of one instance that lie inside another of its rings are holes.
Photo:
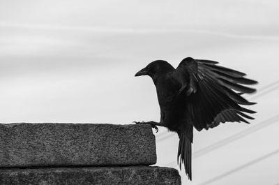
<path fill-rule="evenodd" d="M 243 84 L 257 84 L 246 78 L 245 73 L 218 66 L 217 61 L 186 58 L 175 69 L 167 61 L 151 62 L 135 76 L 149 75 L 157 90 L 160 105 L 160 122 L 136 122 L 151 124 L 153 128 L 165 126 L 179 135 L 177 163 L 181 163 L 188 178 L 192 179 L 191 153 L 193 127 L 197 131 L 218 126 L 220 123 L 254 119 L 247 113 L 255 113 L 240 105 L 253 105 L 242 94 L 256 91 Z M 180 158 L 179 158 L 180 156 Z"/>

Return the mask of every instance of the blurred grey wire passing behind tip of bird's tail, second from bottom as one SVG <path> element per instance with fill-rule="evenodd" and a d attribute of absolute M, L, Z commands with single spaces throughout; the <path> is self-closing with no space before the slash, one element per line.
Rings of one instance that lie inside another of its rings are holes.
<path fill-rule="evenodd" d="M 193 153 L 193 158 L 197 158 L 199 156 L 203 156 L 204 154 L 207 154 L 215 149 L 218 149 L 220 147 L 223 147 L 231 142 L 234 142 L 235 140 L 239 140 L 240 138 L 244 138 L 247 135 L 250 135 L 251 133 L 255 133 L 256 131 L 261 130 L 262 128 L 265 128 L 266 126 L 270 126 L 271 124 L 276 123 L 276 121 L 279 120 L 279 114 L 276 114 L 276 116 L 271 117 L 270 119 L 267 119 L 265 121 L 260 122 L 259 124 L 256 124 L 255 126 L 252 126 L 250 128 L 247 128 L 244 131 L 241 131 L 239 133 L 236 133 L 234 135 L 231 135 L 223 140 L 220 140 L 218 142 L 213 143 L 212 145 L 209 145 L 207 147 L 204 147 L 202 149 L 199 149 L 198 151 L 195 151 Z M 176 161 L 172 161 L 172 163 L 168 163 L 168 165 L 172 165 Z"/>

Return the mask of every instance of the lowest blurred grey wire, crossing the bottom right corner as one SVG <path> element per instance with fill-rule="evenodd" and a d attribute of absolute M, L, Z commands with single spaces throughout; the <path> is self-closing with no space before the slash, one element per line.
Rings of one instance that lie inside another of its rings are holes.
<path fill-rule="evenodd" d="M 219 179 L 222 179 L 223 177 L 226 177 L 226 176 L 228 176 L 228 175 L 231 175 L 231 174 L 233 174 L 234 172 L 238 172 L 239 170 L 242 170 L 243 168 L 247 168 L 247 167 L 249 167 L 250 165 L 254 165 L 255 163 L 258 163 L 259 161 L 263 161 L 264 159 L 269 158 L 269 157 L 271 157 L 271 156 L 274 156 L 274 155 L 276 155 L 276 154 L 278 154 L 278 153 L 279 153 L 279 149 L 276 149 L 275 151 L 271 151 L 269 154 L 266 154 L 266 155 L 264 155 L 264 156 L 260 156 L 259 158 L 256 158 L 256 159 L 253 160 L 253 161 L 250 161 L 250 162 L 248 162 L 248 163 L 245 163 L 245 164 L 243 164 L 243 165 L 240 165 L 240 166 L 237 167 L 237 168 L 234 168 L 234 169 L 232 169 L 232 170 L 229 170 L 229 171 L 227 171 L 227 172 L 225 172 L 225 173 L 223 173 L 223 174 L 221 174 L 221 175 L 218 175 L 218 176 L 216 176 L 216 177 L 213 177 L 212 179 L 209 179 L 209 180 L 207 180 L 206 182 L 202 182 L 201 184 L 198 184 L 198 185 L 205 185 L 205 184 L 210 184 L 210 183 L 212 183 L 212 182 L 216 182 L 216 181 L 218 181 Z"/>

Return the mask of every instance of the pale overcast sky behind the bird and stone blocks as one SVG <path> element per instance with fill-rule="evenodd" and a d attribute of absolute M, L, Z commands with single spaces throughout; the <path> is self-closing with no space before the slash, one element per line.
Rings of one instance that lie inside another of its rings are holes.
<path fill-rule="evenodd" d="M 153 82 L 134 77 L 156 59 L 174 67 L 212 59 L 258 80 L 246 96 L 258 102 L 256 119 L 195 131 L 195 153 L 278 115 L 278 8 L 275 0 L 0 1 L 0 122 L 159 121 Z M 193 182 L 181 172 L 183 184 L 278 184 L 274 120 L 194 158 Z M 156 134 L 157 165 L 177 168 L 178 138 L 165 131 Z"/>

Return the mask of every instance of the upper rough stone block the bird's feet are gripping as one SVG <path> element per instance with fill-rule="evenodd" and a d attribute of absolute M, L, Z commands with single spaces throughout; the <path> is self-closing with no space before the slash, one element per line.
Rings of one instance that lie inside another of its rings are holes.
<path fill-rule="evenodd" d="M 155 163 L 149 125 L 0 124 L 0 168 Z"/>

